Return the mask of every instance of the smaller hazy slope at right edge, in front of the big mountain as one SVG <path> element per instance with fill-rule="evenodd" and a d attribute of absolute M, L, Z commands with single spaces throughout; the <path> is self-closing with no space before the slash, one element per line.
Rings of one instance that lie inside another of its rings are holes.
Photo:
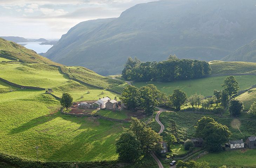
<path fill-rule="evenodd" d="M 230 55 L 222 58 L 223 61 L 256 62 L 256 40 L 238 48 Z"/>

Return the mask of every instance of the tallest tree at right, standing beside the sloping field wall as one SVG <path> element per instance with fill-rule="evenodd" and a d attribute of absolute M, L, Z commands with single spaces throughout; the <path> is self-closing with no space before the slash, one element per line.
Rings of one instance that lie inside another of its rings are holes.
<path fill-rule="evenodd" d="M 224 84 L 222 84 L 224 90 L 228 92 L 229 99 L 238 93 L 239 86 L 234 76 L 229 76 L 224 80 Z"/>

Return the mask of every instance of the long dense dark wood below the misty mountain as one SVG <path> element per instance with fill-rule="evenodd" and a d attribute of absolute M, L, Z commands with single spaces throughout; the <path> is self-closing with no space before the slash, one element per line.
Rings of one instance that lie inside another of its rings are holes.
<path fill-rule="evenodd" d="M 167 61 L 162 62 L 141 62 L 129 57 L 122 77 L 125 80 L 134 81 L 174 81 L 181 79 L 202 78 L 211 73 L 208 62 L 191 59 L 177 59 L 169 57 Z"/>

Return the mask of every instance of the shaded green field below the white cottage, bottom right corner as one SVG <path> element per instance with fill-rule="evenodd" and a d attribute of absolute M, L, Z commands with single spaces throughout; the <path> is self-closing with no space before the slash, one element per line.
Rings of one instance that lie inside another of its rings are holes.
<path fill-rule="evenodd" d="M 226 165 L 228 168 L 256 168 L 256 149 L 245 149 L 243 151 L 223 151 L 210 153 L 197 161 L 206 161 L 212 168 Z"/>

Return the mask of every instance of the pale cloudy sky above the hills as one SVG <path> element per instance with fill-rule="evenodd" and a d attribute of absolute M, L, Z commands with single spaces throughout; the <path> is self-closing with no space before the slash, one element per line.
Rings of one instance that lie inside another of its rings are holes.
<path fill-rule="evenodd" d="M 60 38 L 77 23 L 154 0 L 0 0 L 0 36 Z"/>

